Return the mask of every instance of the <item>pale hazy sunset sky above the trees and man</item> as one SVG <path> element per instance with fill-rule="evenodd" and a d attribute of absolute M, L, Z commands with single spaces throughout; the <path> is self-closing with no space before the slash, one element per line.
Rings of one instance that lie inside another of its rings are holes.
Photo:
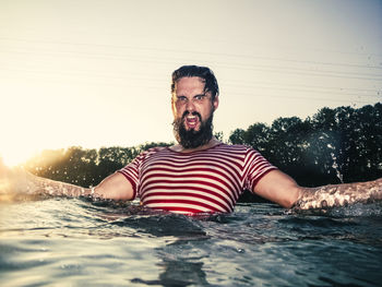
<path fill-rule="evenodd" d="M 170 76 L 210 67 L 215 132 L 382 101 L 382 1 L 0 0 L 0 157 L 170 142 Z"/>

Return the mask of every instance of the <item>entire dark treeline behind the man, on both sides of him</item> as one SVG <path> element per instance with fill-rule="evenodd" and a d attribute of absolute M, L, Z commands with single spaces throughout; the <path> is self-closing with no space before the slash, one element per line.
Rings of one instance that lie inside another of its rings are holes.
<path fill-rule="evenodd" d="M 215 134 L 223 139 L 222 132 Z M 382 104 L 355 109 L 322 108 L 306 120 L 278 118 L 272 125 L 237 129 L 231 144 L 246 144 L 305 187 L 373 180 L 382 177 Z M 25 167 L 33 174 L 83 187 L 95 186 L 152 146 L 44 151 Z"/>

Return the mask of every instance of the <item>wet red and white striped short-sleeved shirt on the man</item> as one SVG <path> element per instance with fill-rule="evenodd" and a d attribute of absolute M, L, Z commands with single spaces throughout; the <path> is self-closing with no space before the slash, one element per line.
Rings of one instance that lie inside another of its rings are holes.
<path fill-rule="evenodd" d="M 118 170 L 143 205 L 172 213 L 228 213 L 243 190 L 276 169 L 259 152 L 243 145 L 218 144 L 179 153 L 154 147 Z"/>

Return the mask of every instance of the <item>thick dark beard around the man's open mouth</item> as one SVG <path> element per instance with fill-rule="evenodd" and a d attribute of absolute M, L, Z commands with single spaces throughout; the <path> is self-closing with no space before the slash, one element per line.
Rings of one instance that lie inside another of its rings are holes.
<path fill-rule="evenodd" d="M 198 116 L 199 121 L 201 122 L 199 131 L 195 131 L 194 129 L 191 129 L 189 131 L 186 130 L 183 122 L 186 116 L 188 116 L 189 113 L 189 111 L 184 111 L 183 116 L 180 119 L 175 120 L 172 122 L 174 134 L 177 141 L 184 148 L 196 148 L 207 144 L 212 139 L 212 132 L 214 129 L 212 120 L 214 118 L 214 112 L 211 112 L 211 116 L 205 122 L 202 122 L 202 116 L 199 112 L 192 112 L 192 116 Z"/>

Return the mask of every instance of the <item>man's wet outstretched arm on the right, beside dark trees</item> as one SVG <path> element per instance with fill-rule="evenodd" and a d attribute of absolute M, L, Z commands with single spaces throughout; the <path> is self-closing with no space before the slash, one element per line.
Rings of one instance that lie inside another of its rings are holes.
<path fill-rule="evenodd" d="M 333 207 L 382 200 L 382 179 L 302 188 L 286 174 L 272 170 L 259 180 L 253 192 L 287 208 Z"/>

